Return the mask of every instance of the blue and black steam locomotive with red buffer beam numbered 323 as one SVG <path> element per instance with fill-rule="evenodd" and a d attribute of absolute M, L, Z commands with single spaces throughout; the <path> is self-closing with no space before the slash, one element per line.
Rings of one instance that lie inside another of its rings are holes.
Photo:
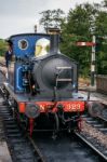
<path fill-rule="evenodd" d="M 13 60 L 4 94 L 14 117 L 34 131 L 80 129 L 85 102 L 78 96 L 78 64 L 59 52 L 58 29 L 10 37 Z"/>

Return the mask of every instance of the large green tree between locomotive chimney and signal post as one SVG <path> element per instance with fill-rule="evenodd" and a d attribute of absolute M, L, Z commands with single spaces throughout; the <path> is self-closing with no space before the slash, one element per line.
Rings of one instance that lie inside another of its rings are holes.
<path fill-rule="evenodd" d="M 92 23 L 95 9 L 93 5 L 85 3 L 77 5 L 75 10 L 70 10 L 67 16 L 67 23 L 63 30 L 64 43 L 62 43 L 62 52 L 76 59 L 80 65 L 81 75 L 90 73 L 91 48 L 77 46 L 78 41 L 92 41 Z"/>

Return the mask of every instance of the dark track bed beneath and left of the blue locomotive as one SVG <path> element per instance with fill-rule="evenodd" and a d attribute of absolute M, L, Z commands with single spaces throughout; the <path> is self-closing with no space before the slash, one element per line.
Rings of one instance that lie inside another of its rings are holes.
<path fill-rule="evenodd" d="M 76 136 L 62 135 L 53 140 L 50 134 L 25 135 L 14 121 L 10 109 L 0 104 L 0 116 L 3 118 L 4 132 L 13 162 L 101 162 L 104 158 L 93 147 L 83 144 Z M 86 140 L 86 139 L 85 139 Z"/>

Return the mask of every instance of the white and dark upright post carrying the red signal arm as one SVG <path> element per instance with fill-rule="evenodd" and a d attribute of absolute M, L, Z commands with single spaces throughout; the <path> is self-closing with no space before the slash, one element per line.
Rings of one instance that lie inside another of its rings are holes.
<path fill-rule="evenodd" d="M 92 37 L 92 42 L 95 44 L 95 36 Z M 91 85 L 95 84 L 95 45 L 92 45 L 92 58 L 91 58 Z"/>

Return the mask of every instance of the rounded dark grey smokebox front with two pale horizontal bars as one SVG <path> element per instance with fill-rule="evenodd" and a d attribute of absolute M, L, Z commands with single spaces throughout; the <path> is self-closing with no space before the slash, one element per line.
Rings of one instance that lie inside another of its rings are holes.
<path fill-rule="evenodd" d="M 54 98 L 56 93 L 58 98 L 70 98 L 77 85 L 77 64 L 63 54 L 51 54 L 35 64 L 32 76 L 38 97 Z"/>

